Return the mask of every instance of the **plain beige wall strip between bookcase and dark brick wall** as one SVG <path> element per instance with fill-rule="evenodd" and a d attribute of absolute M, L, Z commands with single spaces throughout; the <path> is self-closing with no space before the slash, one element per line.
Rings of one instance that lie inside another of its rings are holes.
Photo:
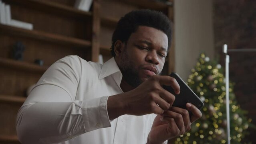
<path fill-rule="evenodd" d="M 175 72 L 187 80 L 200 53 L 214 56 L 212 0 L 174 0 Z"/>

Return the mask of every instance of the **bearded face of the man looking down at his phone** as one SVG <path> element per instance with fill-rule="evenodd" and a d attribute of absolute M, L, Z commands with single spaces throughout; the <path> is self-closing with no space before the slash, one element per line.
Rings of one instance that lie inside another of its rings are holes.
<path fill-rule="evenodd" d="M 148 26 L 139 26 L 121 50 L 119 68 L 125 82 L 137 87 L 150 76 L 160 74 L 167 47 L 165 33 Z"/>

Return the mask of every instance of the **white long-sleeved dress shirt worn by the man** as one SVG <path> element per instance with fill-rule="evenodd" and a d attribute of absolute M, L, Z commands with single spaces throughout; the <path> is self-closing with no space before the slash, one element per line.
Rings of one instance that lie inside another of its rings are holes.
<path fill-rule="evenodd" d="M 52 64 L 18 111 L 23 144 L 145 144 L 155 114 L 109 120 L 108 96 L 123 93 L 111 58 L 101 65 L 79 56 Z"/>

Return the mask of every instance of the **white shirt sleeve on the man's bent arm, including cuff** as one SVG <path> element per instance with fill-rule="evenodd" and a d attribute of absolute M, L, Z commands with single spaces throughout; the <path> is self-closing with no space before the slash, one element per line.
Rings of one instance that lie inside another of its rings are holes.
<path fill-rule="evenodd" d="M 76 56 L 58 60 L 40 78 L 17 114 L 16 131 L 24 144 L 63 142 L 110 127 L 107 98 L 75 100 L 81 77 Z"/>

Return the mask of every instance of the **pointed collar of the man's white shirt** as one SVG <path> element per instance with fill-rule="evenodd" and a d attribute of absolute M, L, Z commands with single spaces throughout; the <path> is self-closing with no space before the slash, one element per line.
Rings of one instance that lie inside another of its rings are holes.
<path fill-rule="evenodd" d="M 123 75 L 122 75 L 119 67 L 117 66 L 117 62 L 115 62 L 114 57 L 102 65 L 101 73 L 99 74 L 99 80 L 101 80 L 107 76 L 110 76 L 110 75 L 113 75 L 113 78 L 115 79 L 115 81 L 117 82 L 118 85 L 121 84 Z"/>

